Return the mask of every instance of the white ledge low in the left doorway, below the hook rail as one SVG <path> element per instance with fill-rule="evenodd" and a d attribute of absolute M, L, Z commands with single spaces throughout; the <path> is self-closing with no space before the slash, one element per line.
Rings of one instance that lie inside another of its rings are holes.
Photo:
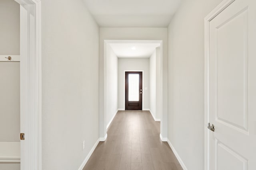
<path fill-rule="evenodd" d="M 20 162 L 20 142 L 0 142 L 0 162 Z"/>

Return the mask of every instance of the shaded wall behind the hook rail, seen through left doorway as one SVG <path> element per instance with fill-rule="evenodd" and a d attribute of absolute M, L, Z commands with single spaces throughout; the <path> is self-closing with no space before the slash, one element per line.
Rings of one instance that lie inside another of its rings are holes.
<path fill-rule="evenodd" d="M 0 0 L 0 55 L 20 55 L 20 4 Z M 20 63 L 0 62 L 0 142 L 20 141 Z M 20 163 L 2 163 L 19 170 Z"/>

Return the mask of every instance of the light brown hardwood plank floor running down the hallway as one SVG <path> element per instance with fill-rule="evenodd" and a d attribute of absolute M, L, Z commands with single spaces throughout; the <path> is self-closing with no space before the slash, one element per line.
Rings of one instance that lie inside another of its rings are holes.
<path fill-rule="evenodd" d="M 83 170 L 182 170 L 149 111 L 118 111 Z"/>

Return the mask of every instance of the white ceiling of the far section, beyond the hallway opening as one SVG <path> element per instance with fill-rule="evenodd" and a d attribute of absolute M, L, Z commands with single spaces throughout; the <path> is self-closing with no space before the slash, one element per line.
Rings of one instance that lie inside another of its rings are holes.
<path fill-rule="evenodd" d="M 118 58 L 149 58 L 160 43 L 111 43 Z"/>

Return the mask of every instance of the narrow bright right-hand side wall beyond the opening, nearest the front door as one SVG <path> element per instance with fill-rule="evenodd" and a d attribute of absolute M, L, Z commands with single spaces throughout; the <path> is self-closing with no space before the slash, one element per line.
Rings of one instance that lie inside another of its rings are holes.
<path fill-rule="evenodd" d="M 149 84 L 149 108 L 150 113 L 154 119 L 156 119 L 156 50 L 152 53 L 149 59 Z"/>

